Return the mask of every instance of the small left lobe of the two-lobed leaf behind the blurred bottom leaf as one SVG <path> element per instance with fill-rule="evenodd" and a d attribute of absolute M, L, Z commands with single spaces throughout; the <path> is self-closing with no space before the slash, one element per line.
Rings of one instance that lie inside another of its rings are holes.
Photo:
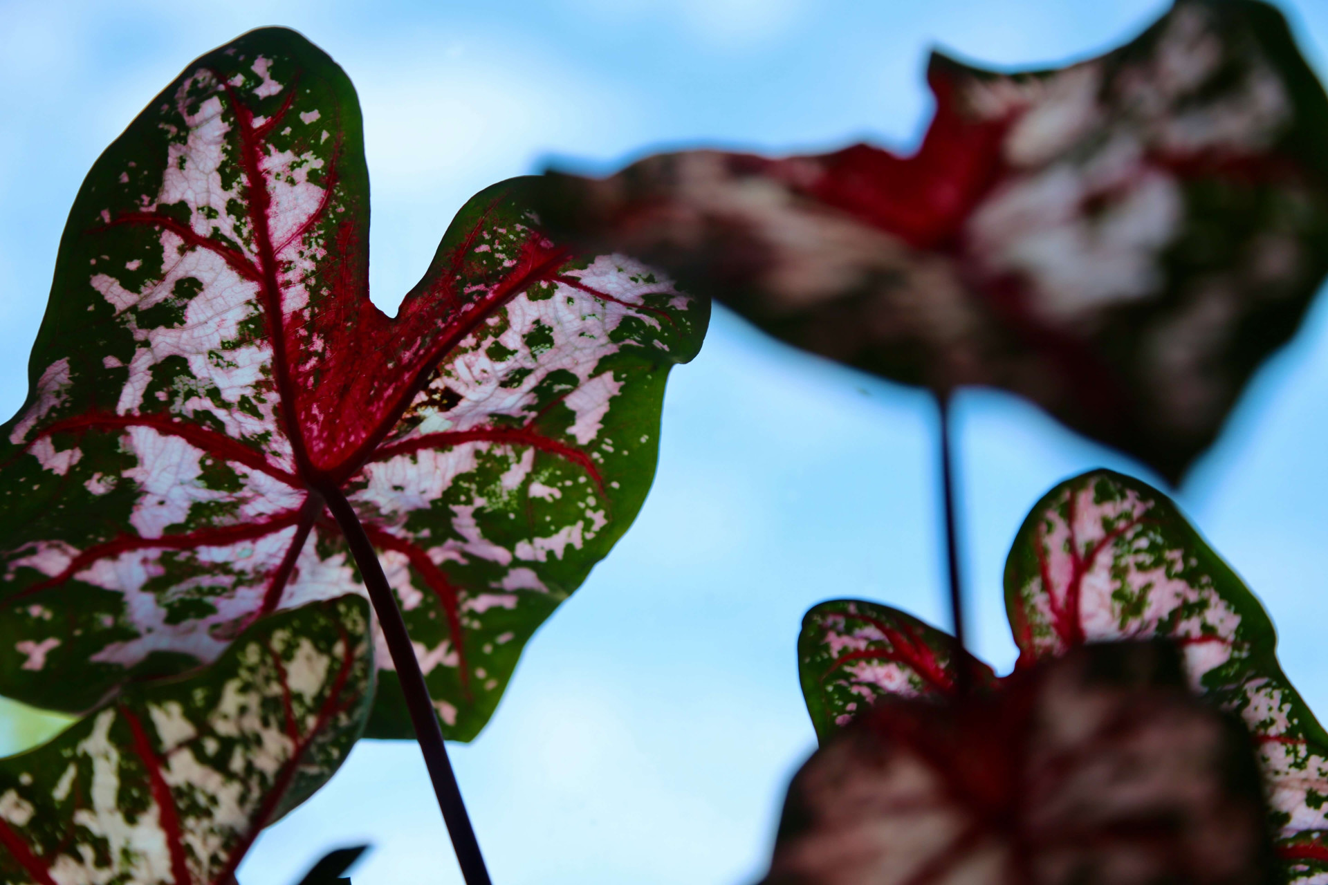
<path fill-rule="evenodd" d="M 798 636 L 798 675 L 817 736 L 825 742 L 883 697 L 955 695 L 955 637 L 888 605 L 831 600 L 813 606 Z M 996 674 L 964 655 L 971 686 Z"/>

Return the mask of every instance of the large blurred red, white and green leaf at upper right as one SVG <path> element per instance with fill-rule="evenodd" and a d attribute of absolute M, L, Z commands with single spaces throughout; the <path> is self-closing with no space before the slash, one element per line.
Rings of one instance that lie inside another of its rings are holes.
<path fill-rule="evenodd" d="M 1058 70 L 935 56 L 916 155 L 554 175 L 550 223 L 887 378 L 1023 394 L 1175 480 L 1328 271 L 1328 100 L 1282 16 L 1181 0 Z"/>

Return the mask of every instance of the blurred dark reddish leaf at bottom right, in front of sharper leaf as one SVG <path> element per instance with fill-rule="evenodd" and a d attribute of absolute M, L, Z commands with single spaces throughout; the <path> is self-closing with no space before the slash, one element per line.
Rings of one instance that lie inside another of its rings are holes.
<path fill-rule="evenodd" d="M 883 701 L 789 787 L 765 885 L 1275 881 L 1240 724 L 1165 644 L 1085 646 L 999 693 Z"/>

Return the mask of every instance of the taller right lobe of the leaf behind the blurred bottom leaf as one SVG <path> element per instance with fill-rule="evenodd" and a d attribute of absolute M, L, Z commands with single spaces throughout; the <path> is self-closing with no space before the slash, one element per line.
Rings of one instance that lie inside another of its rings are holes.
<path fill-rule="evenodd" d="M 1165 495 L 1106 470 L 1053 488 L 1015 537 L 1005 606 L 1020 666 L 1084 642 L 1177 642 L 1193 686 L 1258 740 L 1292 878 L 1328 873 L 1328 734 L 1278 665 L 1259 600 Z"/>

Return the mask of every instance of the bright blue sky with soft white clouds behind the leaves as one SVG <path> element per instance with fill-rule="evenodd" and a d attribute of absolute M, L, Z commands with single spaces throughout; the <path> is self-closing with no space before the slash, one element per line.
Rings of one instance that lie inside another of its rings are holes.
<path fill-rule="evenodd" d="M 1328 3 L 1280 3 L 1323 77 Z M 608 171 L 665 146 L 772 153 L 867 139 L 907 150 L 943 46 L 1000 66 L 1094 54 L 1155 0 L 0 0 L 0 418 L 82 176 L 189 61 L 259 25 L 301 31 L 349 73 L 373 187 L 371 285 L 394 310 L 452 215 L 495 180 Z M 1282 662 L 1328 713 L 1328 303 L 1256 377 L 1179 494 L 1272 612 Z M 1000 579 L 1058 480 L 1145 468 L 991 391 L 959 398 L 965 582 L 976 651 L 1015 649 Z M 947 624 L 935 413 L 918 391 L 778 345 L 722 309 L 673 372 L 640 517 L 526 650 L 487 730 L 453 760 L 498 885 L 754 881 L 814 735 L 794 642 L 855 596 Z M 29 740 L 0 716 L 0 751 Z M 267 831 L 242 885 L 287 885 L 371 841 L 356 885 L 459 882 L 412 743 L 363 742 Z"/>

